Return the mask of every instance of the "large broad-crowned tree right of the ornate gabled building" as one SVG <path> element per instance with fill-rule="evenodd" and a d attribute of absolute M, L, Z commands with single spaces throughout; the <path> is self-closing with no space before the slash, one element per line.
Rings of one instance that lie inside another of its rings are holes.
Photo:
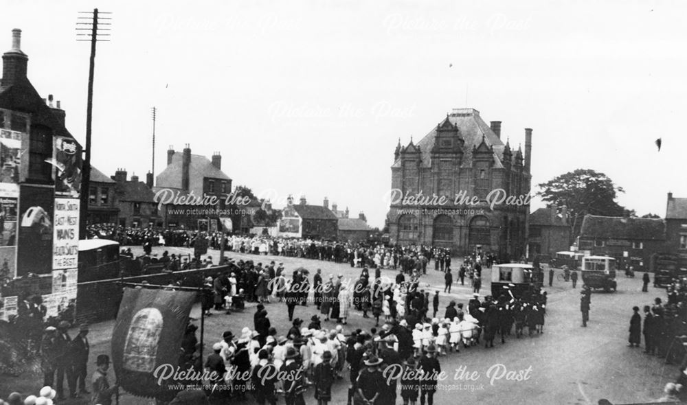
<path fill-rule="evenodd" d="M 625 216 L 632 215 L 616 203 L 618 193 L 624 193 L 611 178 L 590 169 L 578 169 L 561 174 L 552 180 L 537 185 L 537 195 L 547 203 L 567 207 L 572 235 L 579 235 L 585 215 Z"/>

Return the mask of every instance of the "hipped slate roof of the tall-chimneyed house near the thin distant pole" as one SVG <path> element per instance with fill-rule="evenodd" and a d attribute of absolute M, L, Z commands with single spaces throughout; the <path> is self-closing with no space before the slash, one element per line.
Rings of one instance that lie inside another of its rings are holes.
<path fill-rule="evenodd" d="M 161 188 L 181 189 L 181 167 L 183 152 L 174 152 L 172 163 L 165 167 L 157 175 L 155 185 Z M 220 180 L 231 181 L 223 171 L 212 165 L 210 159 L 202 154 L 191 154 L 191 163 L 188 169 L 189 188 L 196 196 L 203 195 L 203 178 L 218 178 Z M 218 185 L 216 185 L 217 187 Z"/>

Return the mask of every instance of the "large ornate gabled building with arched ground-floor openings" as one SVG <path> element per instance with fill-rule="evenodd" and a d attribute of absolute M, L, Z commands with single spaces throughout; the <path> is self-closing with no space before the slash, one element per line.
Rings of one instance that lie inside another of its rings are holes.
<path fill-rule="evenodd" d="M 392 165 L 396 196 L 421 193 L 447 201 L 413 202 L 392 195 L 387 215 L 391 241 L 444 246 L 458 254 L 481 249 L 502 259 L 524 255 L 529 200 L 521 198 L 521 205 L 495 204 L 492 209 L 486 198 L 500 199 L 504 193 L 516 199 L 526 196 L 531 154 L 531 129 L 525 130 L 523 154 L 508 141 L 504 144 L 501 122 L 489 126 L 473 108 L 454 109 L 418 143 L 411 139 L 401 147 L 399 141 Z"/>

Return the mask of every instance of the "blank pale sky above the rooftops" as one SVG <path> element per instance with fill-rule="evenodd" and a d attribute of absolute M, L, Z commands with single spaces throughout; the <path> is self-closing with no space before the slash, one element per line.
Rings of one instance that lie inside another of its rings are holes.
<path fill-rule="evenodd" d="M 382 227 L 398 139 L 453 108 L 532 128 L 532 185 L 578 168 L 665 215 L 687 197 L 687 3 L 677 1 L 102 1 L 92 163 L 144 179 L 169 146 L 222 154 L 234 185 L 282 207 L 328 197 Z M 92 1 L 5 1 L 0 51 L 23 30 L 29 78 L 85 143 Z M 662 138 L 657 151 L 655 139 Z M 543 206 L 535 199 L 532 208 Z"/>

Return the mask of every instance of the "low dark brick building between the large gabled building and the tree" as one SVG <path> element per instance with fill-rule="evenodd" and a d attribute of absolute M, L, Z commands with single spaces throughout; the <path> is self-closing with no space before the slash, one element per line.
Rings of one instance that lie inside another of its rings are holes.
<path fill-rule="evenodd" d="M 570 249 L 571 228 L 567 222 L 567 209 L 551 207 L 540 208 L 530 213 L 528 229 L 528 257 L 536 255 L 550 255 L 554 257 L 556 252 Z"/>

